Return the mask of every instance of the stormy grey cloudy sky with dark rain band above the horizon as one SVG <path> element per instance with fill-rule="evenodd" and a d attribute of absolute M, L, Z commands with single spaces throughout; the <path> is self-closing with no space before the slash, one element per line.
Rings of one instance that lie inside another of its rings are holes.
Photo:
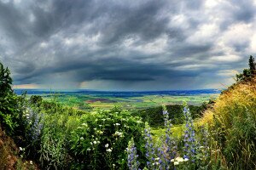
<path fill-rule="evenodd" d="M 0 0 L 14 88 L 227 88 L 256 56 L 256 0 Z"/>

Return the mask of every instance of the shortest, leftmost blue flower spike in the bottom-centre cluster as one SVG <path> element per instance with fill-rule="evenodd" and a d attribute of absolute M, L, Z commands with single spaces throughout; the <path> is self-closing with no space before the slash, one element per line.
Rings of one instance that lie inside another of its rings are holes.
<path fill-rule="evenodd" d="M 131 140 L 129 141 L 129 144 L 128 144 L 128 148 L 126 149 L 127 150 L 127 154 L 128 154 L 128 167 L 130 170 L 137 170 L 139 169 L 139 161 L 137 161 L 137 148 L 135 147 L 135 144 L 134 144 L 134 139 L 131 138 Z"/>

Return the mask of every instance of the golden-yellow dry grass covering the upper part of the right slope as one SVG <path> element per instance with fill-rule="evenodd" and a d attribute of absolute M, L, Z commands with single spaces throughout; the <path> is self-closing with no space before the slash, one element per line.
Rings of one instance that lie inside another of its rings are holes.
<path fill-rule="evenodd" d="M 230 128 L 232 117 L 241 116 L 246 112 L 250 112 L 256 120 L 256 78 L 251 82 L 238 83 L 220 95 L 214 107 L 205 112 L 201 124 L 212 125 L 214 115 L 225 128 Z"/>

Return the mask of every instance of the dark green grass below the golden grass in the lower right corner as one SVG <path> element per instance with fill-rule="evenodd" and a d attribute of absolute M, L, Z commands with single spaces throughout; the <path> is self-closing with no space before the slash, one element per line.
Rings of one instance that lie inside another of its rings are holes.
<path fill-rule="evenodd" d="M 237 111 L 241 108 L 237 107 Z M 230 113 L 233 114 L 233 113 Z M 256 166 L 256 120 L 253 114 L 245 111 L 244 114 L 230 119 L 232 127 L 223 127 L 223 122 L 215 119 L 214 139 L 222 148 L 227 166 L 234 169 L 254 169 Z"/>

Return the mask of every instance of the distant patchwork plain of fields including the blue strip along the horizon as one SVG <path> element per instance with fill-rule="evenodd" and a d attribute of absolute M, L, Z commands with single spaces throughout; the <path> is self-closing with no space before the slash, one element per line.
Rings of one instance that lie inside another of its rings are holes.
<path fill-rule="evenodd" d="M 166 91 L 166 92 L 95 92 L 83 91 L 37 91 L 30 89 L 15 89 L 17 94 L 26 92 L 27 99 L 32 95 L 39 95 L 44 100 L 53 100 L 73 107 L 73 109 L 92 111 L 94 109 L 110 110 L 117 106 L 124 110 L 136 111 L 152 108 L 160 105 L 202 105 L 209 99 L 216 99 L 219 90 L 187 90 L 187 91 Z"/>

